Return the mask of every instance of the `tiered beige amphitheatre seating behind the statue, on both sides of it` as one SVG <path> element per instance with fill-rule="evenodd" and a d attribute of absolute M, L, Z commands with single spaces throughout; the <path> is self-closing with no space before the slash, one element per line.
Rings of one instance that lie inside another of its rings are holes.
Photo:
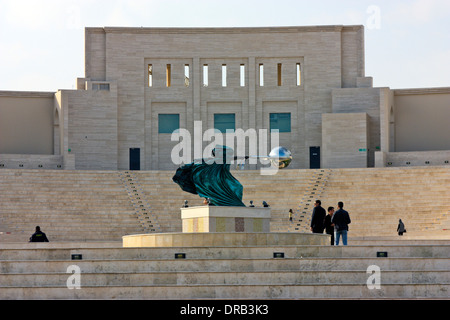
<path fill-rule="evenodd" d="M 272 209 L 272 232 L 310 232 L 313 203 L 343 201 L 349 237 L 450 239 L 450 168 L 233 170 L 243 201 Z M 180 207 L 202 205 L 171 171 L 0 170 L 0 242 L 27 241 L 36 225 L 50 241 L 110 241 L 149 232 L 181 232 Z M 293 221 L 289 221 L 293 209 Z"/>

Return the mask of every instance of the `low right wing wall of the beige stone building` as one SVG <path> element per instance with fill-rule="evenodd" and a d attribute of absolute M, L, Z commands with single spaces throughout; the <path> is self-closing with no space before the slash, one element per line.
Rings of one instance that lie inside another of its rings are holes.
<path fill-rule="evenodd" d="M 450 88 L 388 90 L 380 94 L 376 167 L 448 165 Z"/>

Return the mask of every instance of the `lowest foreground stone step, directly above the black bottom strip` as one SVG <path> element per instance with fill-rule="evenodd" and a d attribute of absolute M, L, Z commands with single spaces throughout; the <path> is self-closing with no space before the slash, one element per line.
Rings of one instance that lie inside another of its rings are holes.
<path fill-rule="evenodd" d="M 154 285 L 1 288 L 0 299 L 448 299 L 441 284 L 386 284 L 370 290 L 366 284 L 308 285 Z"/>

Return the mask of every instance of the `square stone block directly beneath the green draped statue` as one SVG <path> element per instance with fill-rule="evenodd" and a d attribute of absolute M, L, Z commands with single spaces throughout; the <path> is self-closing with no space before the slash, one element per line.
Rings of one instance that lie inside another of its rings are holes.
<path fill-rule="evenodd" d="M 202 206 L 181 208 L 183 233 L 270 232 L 270 208 Z"/>

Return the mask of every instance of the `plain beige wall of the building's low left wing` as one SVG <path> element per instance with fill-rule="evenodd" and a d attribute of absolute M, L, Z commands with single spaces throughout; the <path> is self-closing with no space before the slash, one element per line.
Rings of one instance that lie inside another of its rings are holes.
<path fill-rule="evenodd" d="M 0 91 L 0 154 L 53 154 L 54 93 Z"/>

